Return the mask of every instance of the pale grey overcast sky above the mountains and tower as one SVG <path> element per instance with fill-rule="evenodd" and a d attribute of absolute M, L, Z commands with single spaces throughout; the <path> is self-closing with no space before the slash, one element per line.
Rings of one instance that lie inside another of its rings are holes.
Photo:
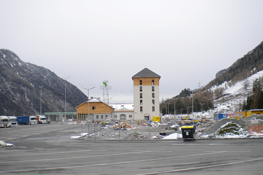
<path fill-rule="evenodd" d="M 0 0 L 0 48 L 110 103 L 133 103 L 131 77 L 161 76 L 160 101 L 206 85 L 263 41 L 263 1 Z"/>

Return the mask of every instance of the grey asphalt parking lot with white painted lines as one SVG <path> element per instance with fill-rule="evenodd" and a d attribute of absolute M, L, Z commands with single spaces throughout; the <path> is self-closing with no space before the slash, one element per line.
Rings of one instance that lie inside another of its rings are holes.
<path fill-rule="evenodd" d="M 263 139 L 84 141 L 80 125 L 7 128 L 0 174 L 262 174 Z M 4 128 L 0 129 L 3 140 Z"/>

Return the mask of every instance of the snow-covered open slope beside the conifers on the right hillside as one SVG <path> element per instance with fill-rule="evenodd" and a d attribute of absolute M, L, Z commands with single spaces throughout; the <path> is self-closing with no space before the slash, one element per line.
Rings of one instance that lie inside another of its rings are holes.
<path fill-rule="evenodd" d="M 214 109 L 209 111 L 210 113 L 222 113 L 222 112 L 236 112 L 242 108 L 244 100 L 248 95 L 252 95 L 252 85 L 256 78 L 263 77 L 263 70 L 253 74 L 247 78 L 247 90 L 245 90 L 245 79 L 238 81 L 235 84 L 231 82 L 224 82 L 219 86 L 213 86 L 211 91 L 216 89 L 222 89 L 224 97 L 214 100 Z"/>

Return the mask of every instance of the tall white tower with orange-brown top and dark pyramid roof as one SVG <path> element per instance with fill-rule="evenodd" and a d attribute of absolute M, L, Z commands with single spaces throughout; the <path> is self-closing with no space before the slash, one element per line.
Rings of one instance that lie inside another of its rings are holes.
<path fill-rule="evenodd" d="M 134 120 L 153 120 L 159 116 L 159 80 L 161 76 L 144 68 L 133 80 Z"/>

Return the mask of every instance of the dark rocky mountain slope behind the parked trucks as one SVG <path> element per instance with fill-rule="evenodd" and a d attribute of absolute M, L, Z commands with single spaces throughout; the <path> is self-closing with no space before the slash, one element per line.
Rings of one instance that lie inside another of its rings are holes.
<path fill-rule="evenodd" d="M 65 80 L 44 67 L 25 63 L 12 51 L 1 48 L 0 115 L 40 114 L 41 97 L 42 114 L 65 112 Z M 76 112 L 75 107 L 86 100 L 83 92 L 66 81 L 67 112 Z"/>

